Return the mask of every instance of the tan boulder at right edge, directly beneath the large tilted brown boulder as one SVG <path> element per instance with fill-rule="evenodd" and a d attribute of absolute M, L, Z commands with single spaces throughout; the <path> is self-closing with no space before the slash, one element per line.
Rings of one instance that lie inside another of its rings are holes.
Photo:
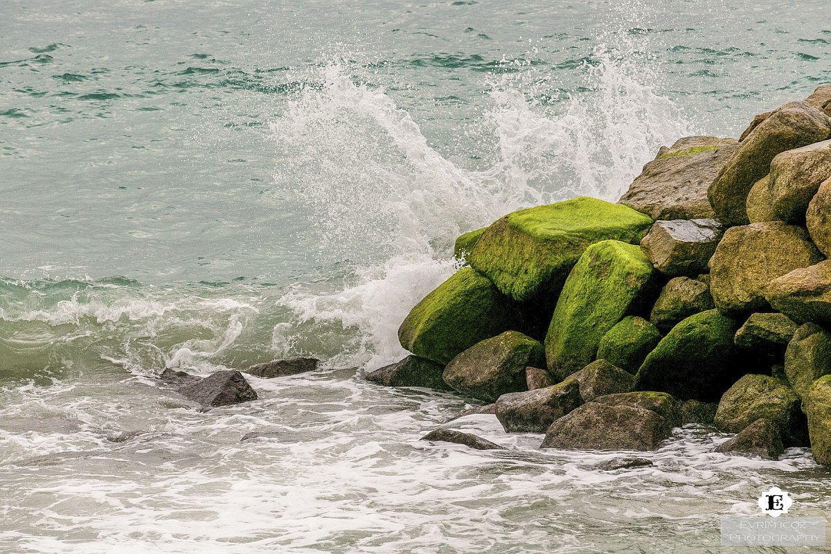
<path fill-rule="evenodd" d="M 770 202 L 785 223 L 805 221 L 819 184 L 831 177 L 831 140 L 787 150 L 770 163 Z"/>

